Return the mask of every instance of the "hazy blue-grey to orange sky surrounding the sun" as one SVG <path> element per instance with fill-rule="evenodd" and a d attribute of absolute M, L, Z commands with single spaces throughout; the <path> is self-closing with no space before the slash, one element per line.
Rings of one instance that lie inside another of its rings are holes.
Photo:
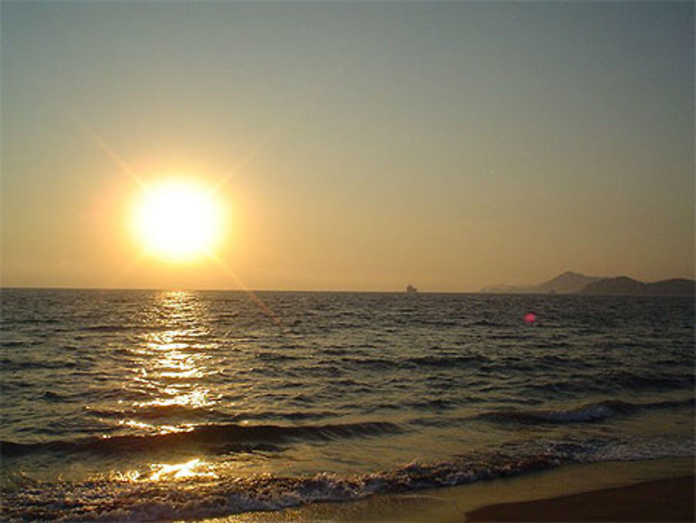
<path fill-rule="evenodd" d="M 3 286 L 693 277 L 692 2 L 1 15 Z M 139 256 L 135 178 L 170 173 L 224 181 L 221 263 Z"/>

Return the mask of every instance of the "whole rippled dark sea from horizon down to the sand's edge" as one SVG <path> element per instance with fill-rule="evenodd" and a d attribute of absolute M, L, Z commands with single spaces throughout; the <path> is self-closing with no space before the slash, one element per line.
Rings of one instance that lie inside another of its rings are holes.
<path fill-rule="evenodd" d="M 2 520 L 195 520 L 694 455 L 690 298 L 1 301 Z"/>

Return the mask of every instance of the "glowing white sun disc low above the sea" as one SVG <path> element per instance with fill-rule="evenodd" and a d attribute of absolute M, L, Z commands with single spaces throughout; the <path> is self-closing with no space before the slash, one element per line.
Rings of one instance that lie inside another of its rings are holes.
<path fill-rule="evenodd" d="M 170 180 L 148 187 L 134 212 L 134 232 L 148 253 L 184 262 L 212 251 L 221 236 L 221 206 L 196 182 Z"/>

